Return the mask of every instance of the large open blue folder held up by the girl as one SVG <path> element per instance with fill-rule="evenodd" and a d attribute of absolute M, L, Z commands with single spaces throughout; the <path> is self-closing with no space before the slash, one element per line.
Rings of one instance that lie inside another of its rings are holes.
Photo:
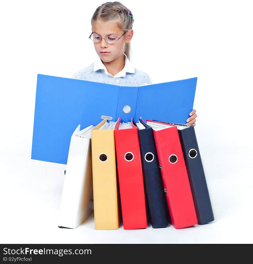
<path fill-rule="evenodd" d="M 76 126 L 97 125 L 101 117 L 185 124 L 196 83 L 197 77 L 133 87 L 38 74 L 32 159 L 66 164 Z"/>

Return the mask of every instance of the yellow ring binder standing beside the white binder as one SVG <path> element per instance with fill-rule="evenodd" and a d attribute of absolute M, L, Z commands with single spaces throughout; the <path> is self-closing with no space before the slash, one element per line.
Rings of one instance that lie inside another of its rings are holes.
<path fill-rule="evenodd" d="M 114 127 L 99 130 L 104 119 L 91 130 L 95 229 L 119 228 Z M 116 122 L 115 122 L 116 123 Z"/>

